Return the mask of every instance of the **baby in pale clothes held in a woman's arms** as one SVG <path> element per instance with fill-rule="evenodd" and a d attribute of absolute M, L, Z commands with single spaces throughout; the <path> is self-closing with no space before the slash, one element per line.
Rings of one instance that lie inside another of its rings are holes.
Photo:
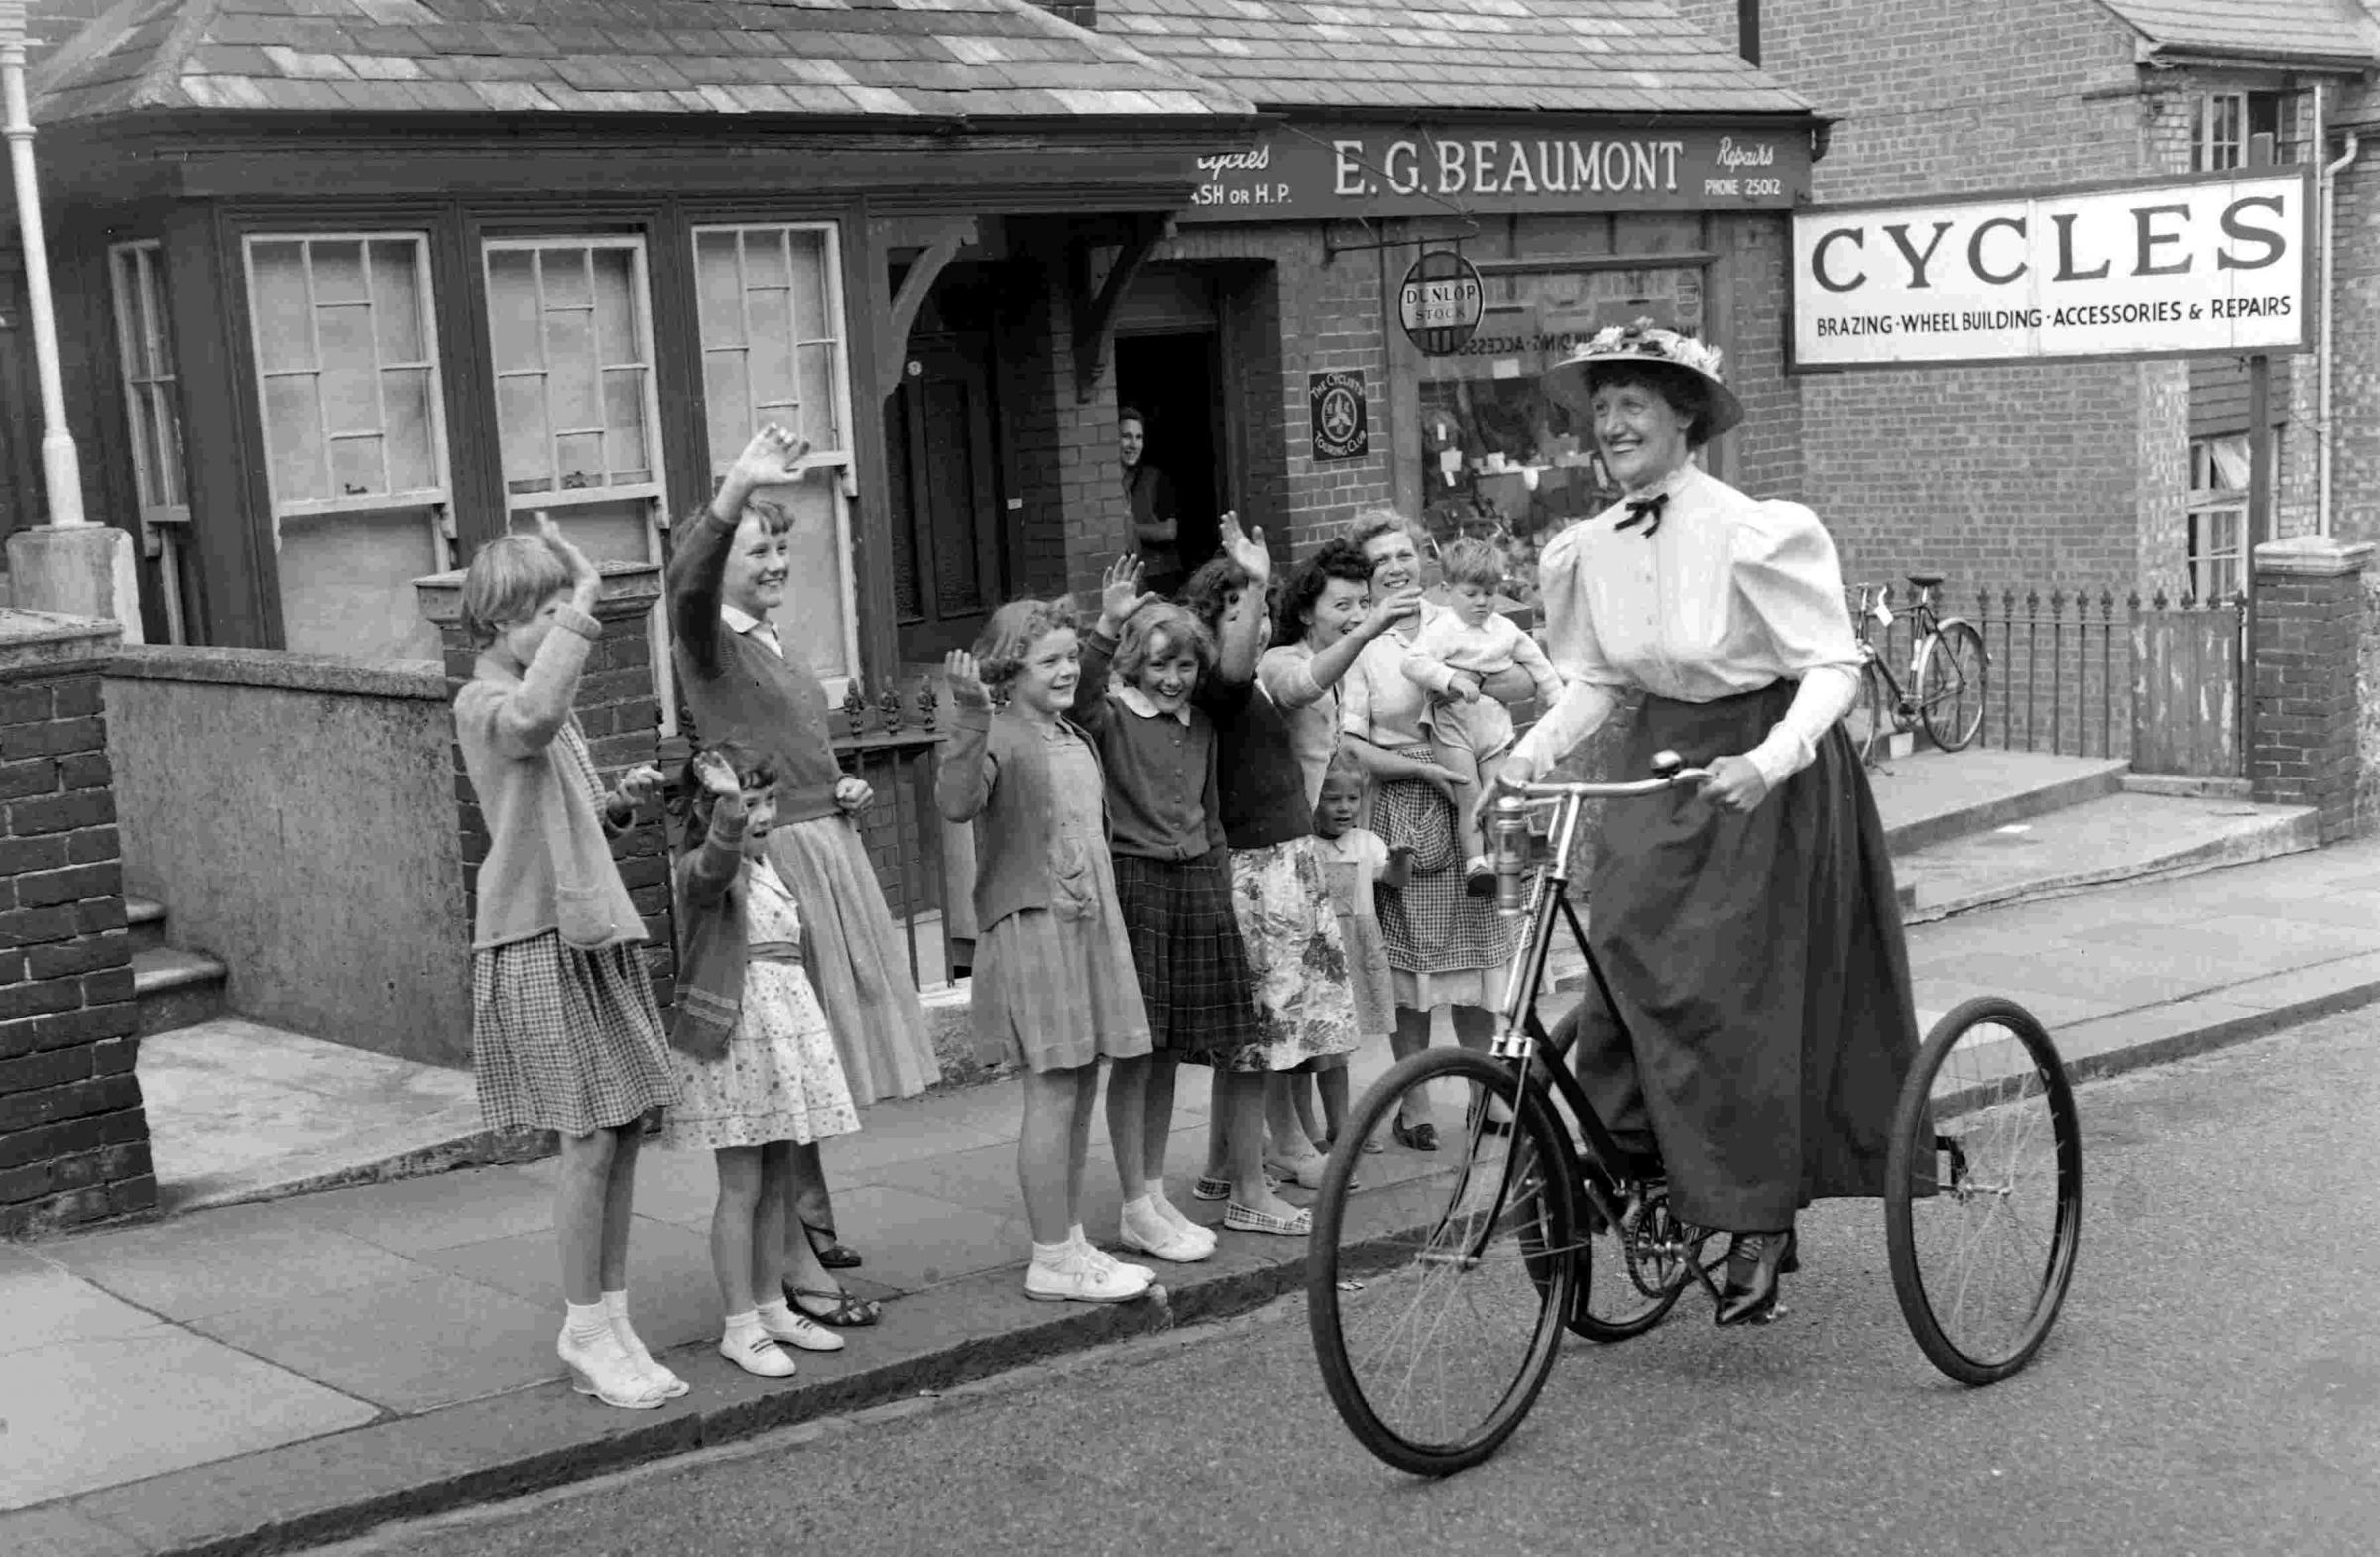
<path fill-rule="evenodd" d="M 1461 826 L 1464 890 L 1473 898 L 1495 893 L 1495 869 L 1480 833 L 1480 793 L 1495 786 L 1504 755 L 1511 752 L 1511 712 L 1480 690 L 1497 671 L 1521 667 L 1537 683 L 1537 707 L 1561 698 L 1561 676 L 1511 617 L 1495 609 L 1504 586 L 1504 552 L 1485 540 L 1454 540 L 1438 552 L 1438 571 L 1447 583 L 1452 609 L 1428 619 L 1404 655 L 1404 676 L 1433 693 L 1423 733 L 1438 767 L 1459 776 L 1454 814 Z"/>

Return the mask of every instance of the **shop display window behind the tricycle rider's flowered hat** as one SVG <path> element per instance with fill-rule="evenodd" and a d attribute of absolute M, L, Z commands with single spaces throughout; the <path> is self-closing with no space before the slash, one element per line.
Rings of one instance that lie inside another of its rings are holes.
<path fill-rule="evenodd" d="M 1542 388 L 1547 364 L 1609 324 L 1702 333 L 1702 269 L 1490 274 L 1488 312 L 1452 357 L 1421 359 L 1421 512 L 1440 545 L 1499 543 L 1511 595 L 1535 605 L 1537 552 L 1561 529 L 1618 500 L 1595 429 Z"/>

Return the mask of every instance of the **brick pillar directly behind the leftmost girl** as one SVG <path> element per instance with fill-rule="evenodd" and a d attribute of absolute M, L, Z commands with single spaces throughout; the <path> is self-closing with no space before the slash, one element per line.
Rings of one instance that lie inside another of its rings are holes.
<path fill-rule="evenodd" d="M 652 562 L 602 562 L 602 598 L 595 619 L 602 638 L 588 652 L 578 679 L 578 726 L 588 736 L 595 767 L 616 776 L 638 762 L 654 762 L 662 743 L 662 702 L 652 686 L 652 607 L 662 598 L 662 569 Z M 462 574 L 438 574 L 414 583 L 421 614 L 438 624 L 445 648 L 447 688 L 462 690 L 478 662 L 478 645 L 462 629 Z M 488 857 L 488 824 L 478 812 L 471 776 L 455 748 L 455 824 L 462 831 L 464 938 L 478 914 L 478 867 Z M 666 1012 L 676 998 L 678 959 L 671 948 L 669 914 L 669 828 L 647 814 L 635 828 L 612 840 L 621 881 L 645 917 L 645 967 L 652 971 L 652 995 Z"/>

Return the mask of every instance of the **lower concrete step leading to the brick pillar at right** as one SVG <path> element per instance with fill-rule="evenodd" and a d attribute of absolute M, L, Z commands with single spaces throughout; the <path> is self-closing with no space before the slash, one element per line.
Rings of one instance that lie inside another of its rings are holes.
<path fill-rule="evenodd" d="M 2030 819 L 1894 850 L 1911 924 L 2066 898 L 2094 886 L 2187 876 L 2320 843 L 2313 809 L 2113 793 Z"/>

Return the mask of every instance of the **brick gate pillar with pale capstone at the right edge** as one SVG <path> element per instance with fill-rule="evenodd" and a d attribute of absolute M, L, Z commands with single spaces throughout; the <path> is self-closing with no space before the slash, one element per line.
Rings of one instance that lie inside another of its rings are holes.
<path fill-rule="evenodd" d="M 2249 786 L 2256 800 L 2316 807 L 2323 843 L 2356 824 L 2356 662 L 2370 555 L 2370 545 L 2328 536 L 2256 548 Z"/>

